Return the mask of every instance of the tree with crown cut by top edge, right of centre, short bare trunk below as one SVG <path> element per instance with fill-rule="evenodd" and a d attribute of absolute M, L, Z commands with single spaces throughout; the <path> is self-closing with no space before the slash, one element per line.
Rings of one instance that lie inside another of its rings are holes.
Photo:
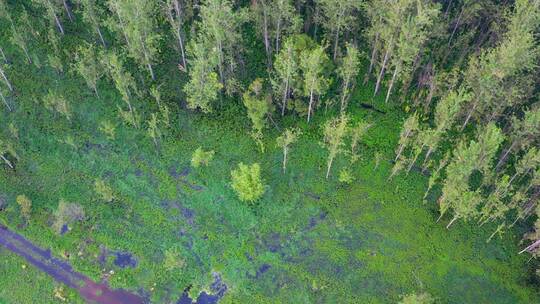
<path fill-rule="evenodd" d="M 316 4 L 321 7 L 321 26 L 326 29 L 328 41 L 334 41 L 334 55 L 336 60 L 340 36 L 353 29 L 358 21 L 358 10 L 362 5 L 359 0 L 317 0 Z"/>

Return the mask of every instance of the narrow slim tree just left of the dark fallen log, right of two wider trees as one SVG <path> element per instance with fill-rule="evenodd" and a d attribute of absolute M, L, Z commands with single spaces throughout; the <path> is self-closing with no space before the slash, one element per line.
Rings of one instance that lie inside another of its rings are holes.
<path fill-rule="evenodd" d="M 356 77 L 360 70 L 360 55 L 358 49 L 347 44 L 347 55 L 343 58 L 338 68 L 338 75 L 341 78 L 341 112 L 345 112 L 351 92 L 356 83 Z"/>

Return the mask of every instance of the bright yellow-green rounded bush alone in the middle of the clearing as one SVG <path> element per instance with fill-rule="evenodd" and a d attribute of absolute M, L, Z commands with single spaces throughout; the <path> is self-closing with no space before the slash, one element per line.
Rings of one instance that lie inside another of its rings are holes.
<path fill-rule="evenodd" d="M 262 197 L 265 186 L 261 179 L 261 167 L 238 164 L 238 169 L 231 172 L 232 187 L 243 202 L 254 202 Z"/>

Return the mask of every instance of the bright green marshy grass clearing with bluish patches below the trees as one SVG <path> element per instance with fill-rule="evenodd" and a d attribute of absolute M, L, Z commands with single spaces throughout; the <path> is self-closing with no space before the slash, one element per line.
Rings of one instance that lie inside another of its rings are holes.
<path fill-rule="evenodd" d="M 7 53 L 17 58 L 13 49 Z M 527 257 L 516 254 L 518 234 L 486 243 L 494 227 L 459 222 L 447 230 L 435 222 L 434 198 L 422 203 L 425 176 L 413 171 L 387 180 L 387 160 L 405 114 L 372 100 L 371 84 L 359 86 L 350 102 L 353 121 L 365 119 L 373 127 L 352 168 L 355 182 L 346 186 L 337 181 L 339 170 L 349 166 L 344 156 L 324 179 L 320 125 L 334 114 L 325 115 L 323 108 L 309 125 L 293 116 L 279 122 L 304 131 L 282 173 L 274 143 L 279 132 L 266 131 L 267 151 L 261 154 L 238 102 L 203 116 L 176 109 L 178 88 L 167 89 L 164 99 L 176 117 L 158 152 L 142 130 L 124 126 L 111 110 L 121 101 L 109 84 L 100 84 L 97 99 L 70 74 L 23 63 L 8 72 L 19 88 L 19 106 L 0 114 L 1 129 L 6 132 L 9 122 L 19 129 L 21 160 L 16 172 L 0 171 L 0 194 L 7 202 L 0 222 L 56 256 L 69 253 L 74 268 L 94 280 L 113 271 L 112 286 L 143 290 L 155 303 L 174 303 L 188 286 L 192 296 L 208 290 L 212 272 L 228 285 L 223 303 L 392 303 L 415 291 L 444 303 L 539 301 L 537 290 L 526 284 Z M 160 69 L 158 77 L 171 73 Z M 70 98 L 71 122 L 41 105 L 49 88 Z M 374 102 L 387 114 L 362 109 L 359 102 Z M 149 103 L 139 101 L 139 110 L 151 108 Z M 117 124 L 116 140 L 96 127 L 105 119 Z M 75 146 L 65 143 L 68 136 Z M 183 181 L 174 177 L 189 167 L 198 147 L 216 152 L 212 163 L 192 169 Z M 378 167 L 376 152 L 384 156 Z M 240 202 L 230 187 L 230 171 L 239 162 L 261 164 L 268 188 L 255 206 Z M 111 185 L 114 202 L 100 201 L 93 190 L 96 178 Z M 15 202 L 19 194 L 33 202 L 26 227 Z M 60 199 L 86 212 L 86 221 L 63 236 L 50 227 Z M 121 269 L 111 256 L 101 265 L 100 248 L 130 252 L 138 265 Z M 165 267 L 170 249 L 179 252 L 182 268 Z M 5 250 L 0 255 L 0 302 L 58 302 L 52 279 L 23 268 L 25 261 Z M 73 291 L 61 293 L 70 303 L 82 302 Z"/>

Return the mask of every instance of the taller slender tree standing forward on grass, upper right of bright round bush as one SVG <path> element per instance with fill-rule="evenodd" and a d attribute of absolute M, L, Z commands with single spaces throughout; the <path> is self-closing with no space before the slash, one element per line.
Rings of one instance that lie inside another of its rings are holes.
<path fill-rule="evenodd" d="M 334 159 L 345 151 L 345 136 L 349 132 L 349 117 L 342 114 L 340 117 L 330 119 L 324 124 L 324 145 L 328 149 L 326 161 L 326 179 L 330 176 L 330 169 Z"/>

